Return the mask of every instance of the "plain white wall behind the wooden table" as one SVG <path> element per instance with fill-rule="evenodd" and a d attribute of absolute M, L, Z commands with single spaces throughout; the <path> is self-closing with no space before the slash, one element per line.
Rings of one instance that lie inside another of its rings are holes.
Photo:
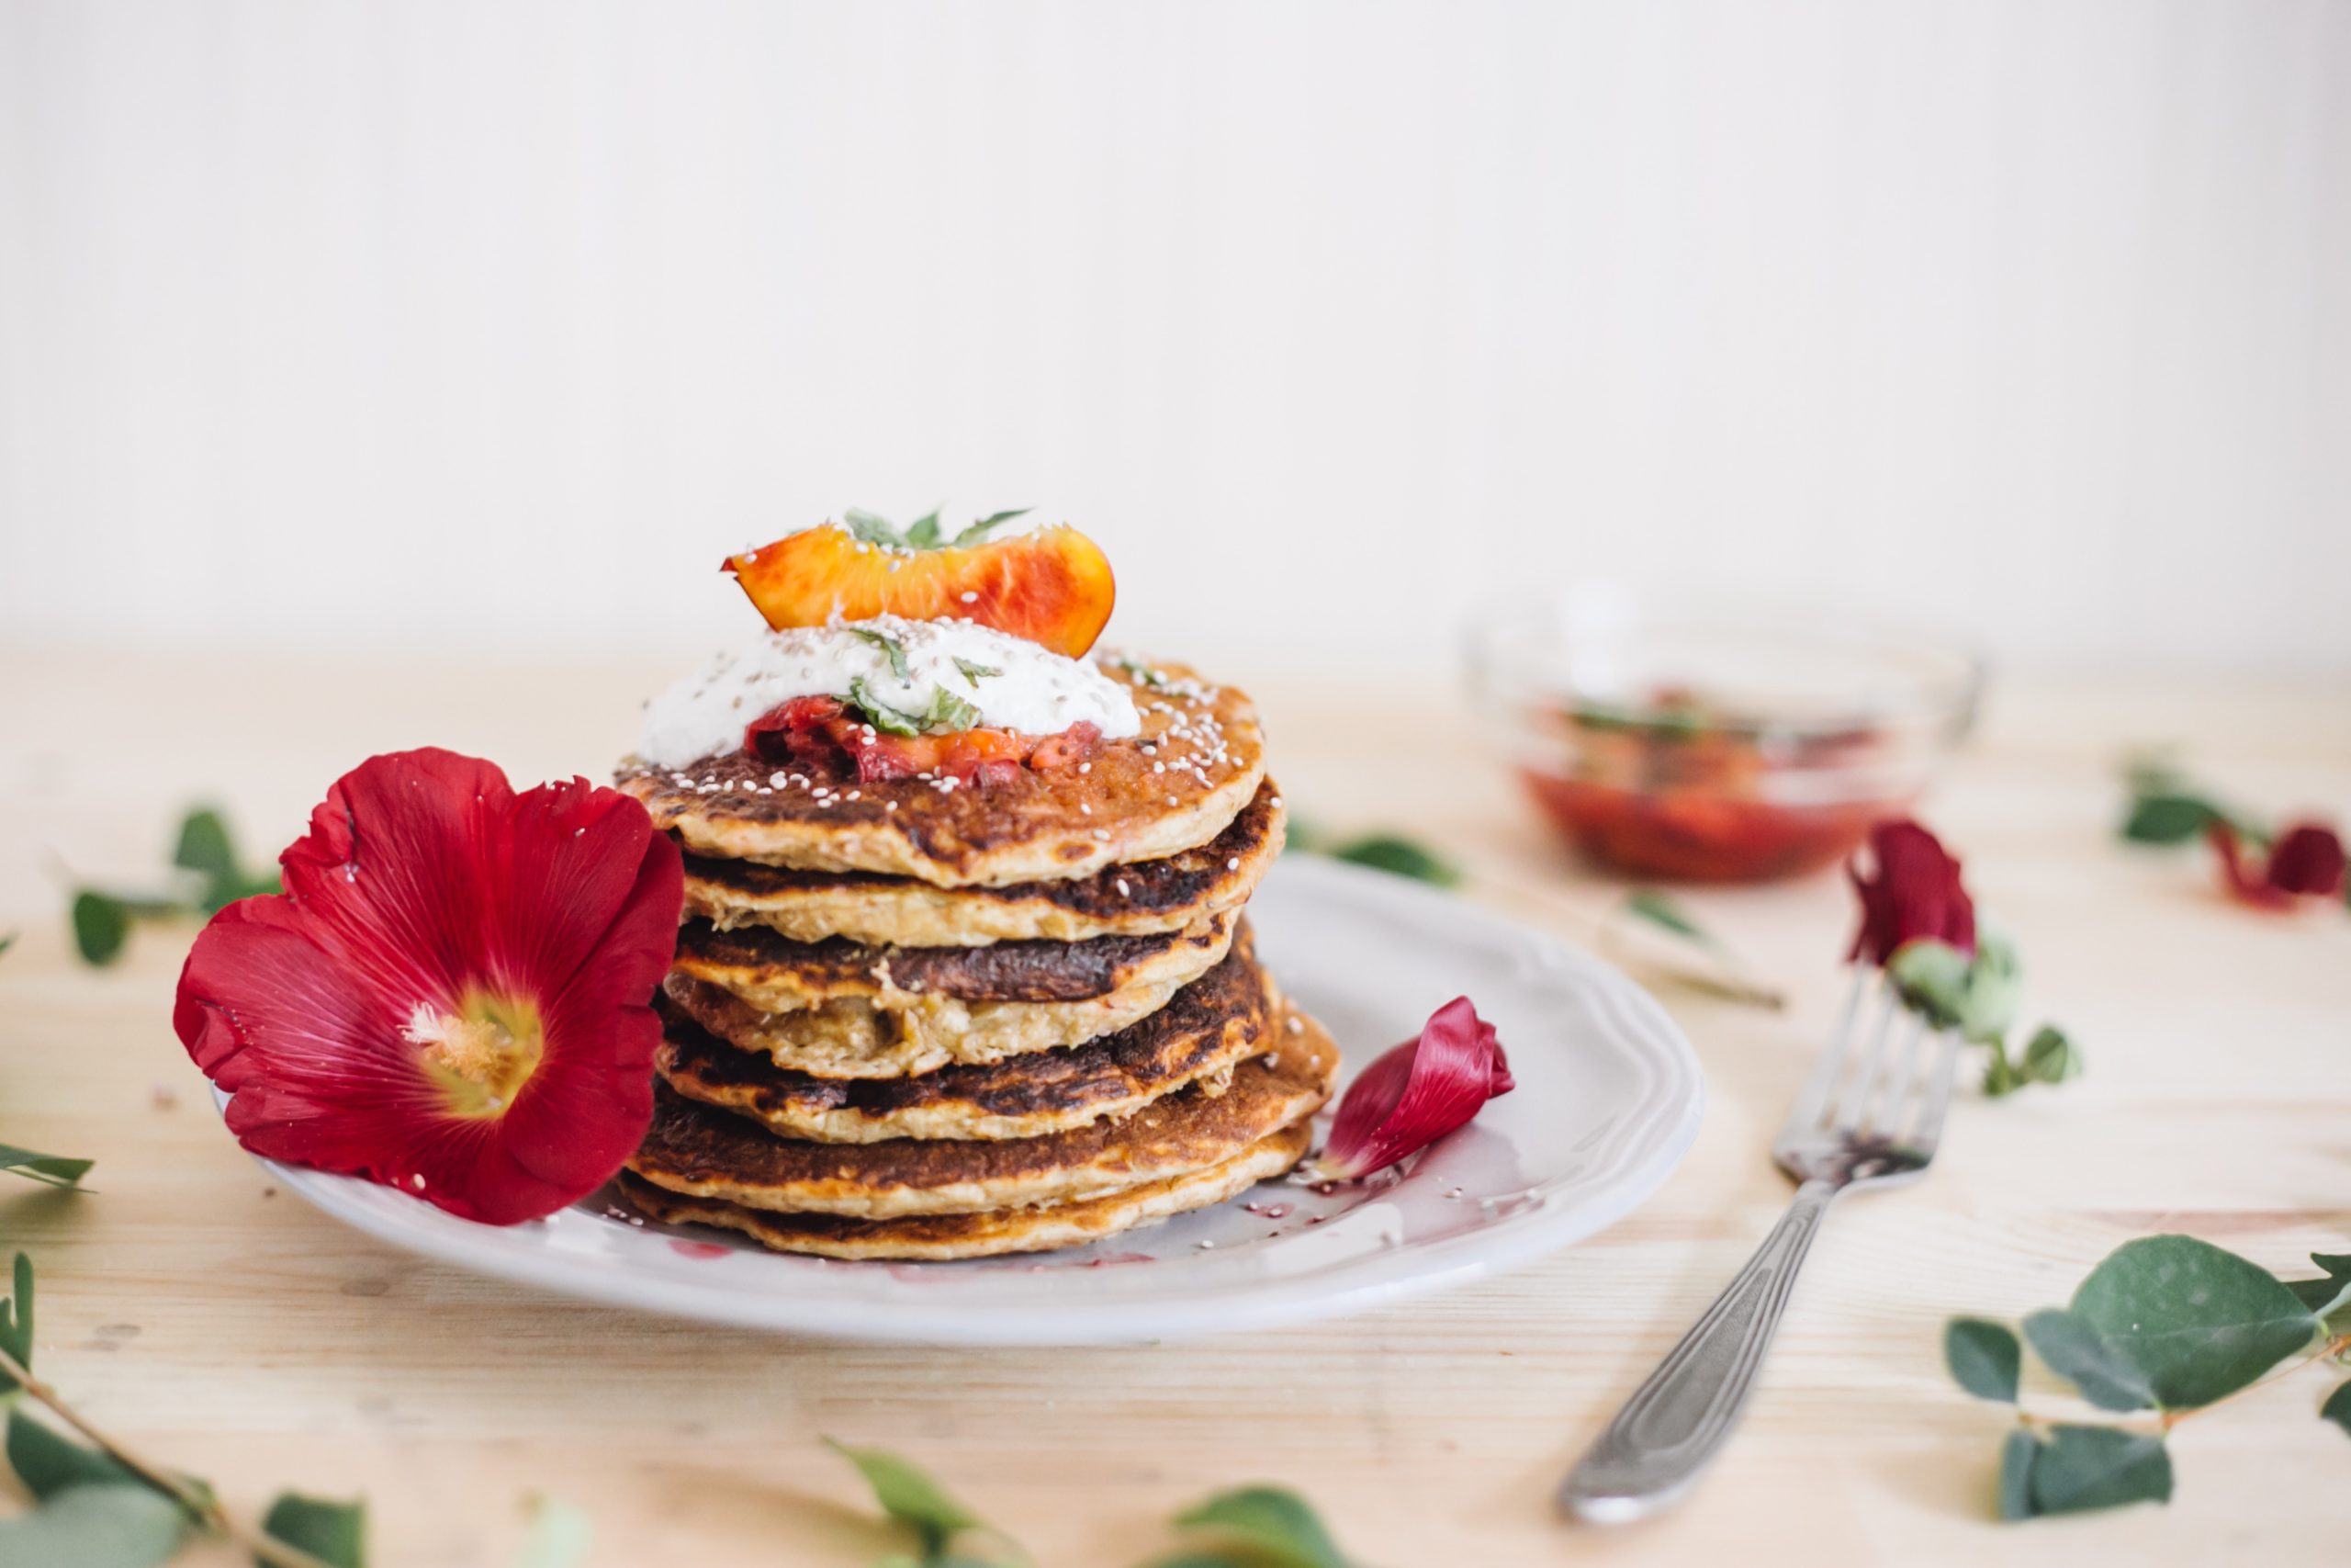
<path fill-rule="evenodd" d="M 2351 5 L 0 0 L 0 637 L 710 644 L 933 501 L 1298 672 L 2351 670 Z"/>

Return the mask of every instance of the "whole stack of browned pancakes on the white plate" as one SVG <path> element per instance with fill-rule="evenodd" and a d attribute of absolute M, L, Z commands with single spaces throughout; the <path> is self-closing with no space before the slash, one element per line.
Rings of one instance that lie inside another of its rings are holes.
<path fill-rule="evenodd" d="M 686 851 L 637 1208 L 792 1253 L 980 1258 L 1298 1164 L 1338 1053 L 1241 914 L 1284 825 L 1255 710 L 1100 668 L 1143 733 L 980 788 L 623 762 Z"/>

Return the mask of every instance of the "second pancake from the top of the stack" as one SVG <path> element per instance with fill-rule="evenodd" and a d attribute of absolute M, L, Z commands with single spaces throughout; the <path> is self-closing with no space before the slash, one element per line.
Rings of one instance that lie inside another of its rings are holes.
<path fill-rule="evenodd" d="M 1281 792 L 1267 778 L 1211 842 L 1091 877 L 940 889 L 915 877 L 795 872 L 686 856 L 686 914 L 719 931 L 766 926 L 797 943 L 839 936 L 872 945 L 952 947 L 1147 936 L 1241 907 L 1281 853 Z"/>

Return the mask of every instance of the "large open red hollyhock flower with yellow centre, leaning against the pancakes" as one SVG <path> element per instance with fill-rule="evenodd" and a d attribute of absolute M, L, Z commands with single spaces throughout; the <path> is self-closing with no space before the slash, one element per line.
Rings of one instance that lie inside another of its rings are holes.
<path fill-rule="evenodd" d="M 172 1027 L 254 1154 L 513 1225 L 602 1187 L 654 1114 L 677 846 L 585 778 L 369 757 L 212 917 Z"/>

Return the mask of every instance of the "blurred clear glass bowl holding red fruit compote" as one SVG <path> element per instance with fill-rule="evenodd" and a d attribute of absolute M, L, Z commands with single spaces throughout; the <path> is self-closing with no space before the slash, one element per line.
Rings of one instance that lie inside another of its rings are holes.
<path fill-rule="evenodd" d="M 1545 816 L 1592 860 L 1672 882 L 1846 858 L 1925 790 L 1982 682 L 1930 635 L 1613 583 L 1509 604 L 1472 637 L 1479 705 Z"/>

